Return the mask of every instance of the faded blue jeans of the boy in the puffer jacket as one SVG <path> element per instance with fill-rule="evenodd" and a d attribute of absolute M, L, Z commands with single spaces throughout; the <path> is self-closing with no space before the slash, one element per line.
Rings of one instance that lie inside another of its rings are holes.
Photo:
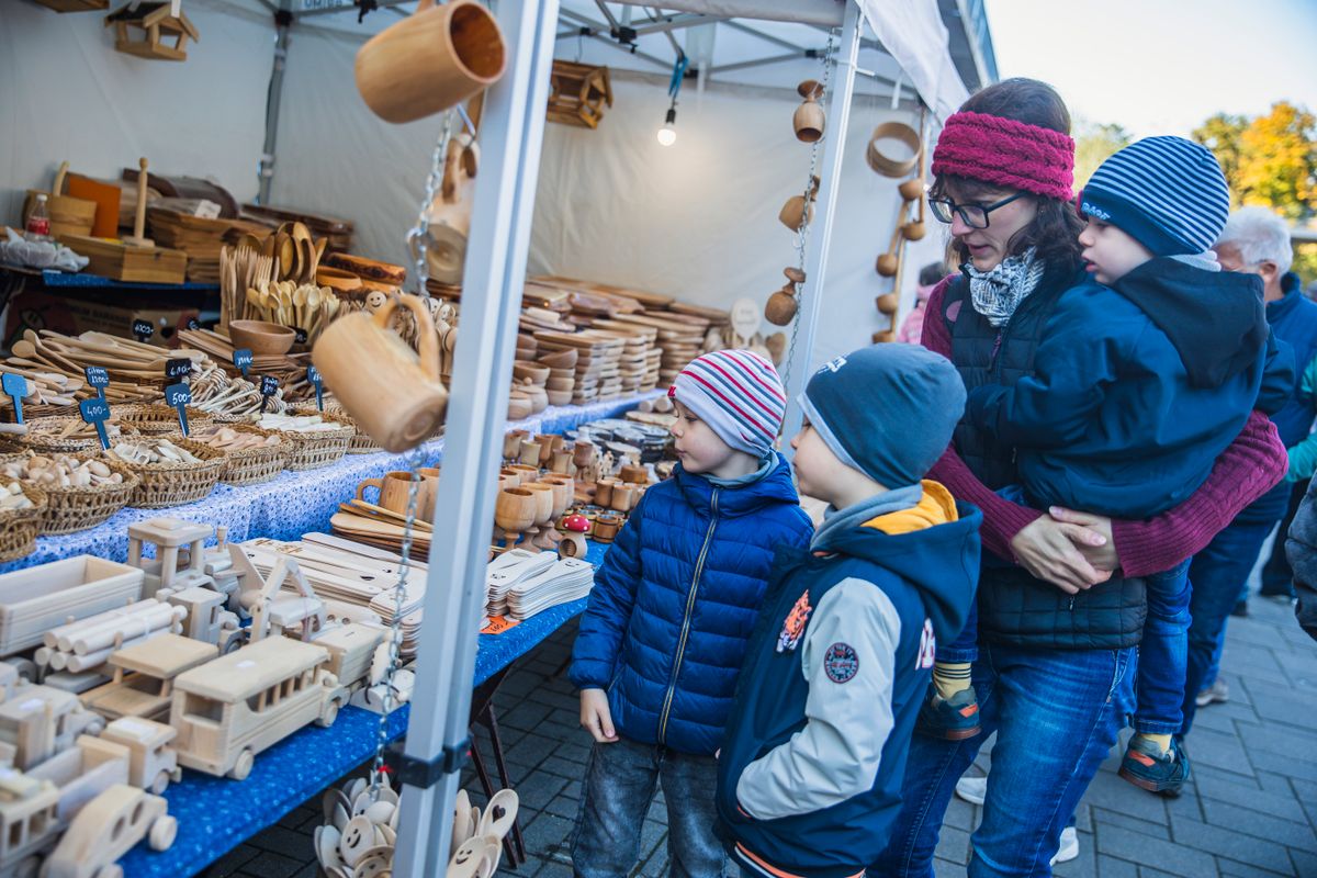
<path fill-rule="evenodd" d="M 640 860 L 640 828 L 655 788 L 668 802 L 673 878 L 722 878 L 726 854 L 714 835 L 718 762 L 619 737 L 595 744 L 585 769 L 572 866 L 581 878 L 630 875 Z"/>

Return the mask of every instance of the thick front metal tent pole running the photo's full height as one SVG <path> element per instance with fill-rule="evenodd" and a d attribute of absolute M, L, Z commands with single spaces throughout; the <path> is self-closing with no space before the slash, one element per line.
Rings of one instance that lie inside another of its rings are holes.
<path fill-rule="evenodd" d="M 508 67 L 490 87 L 481 121 L 481 174 L 462 284 L 470 295 L 462 301 L 416 669 L 427 683 L 416 687 L 411 703 L 404 779 L 417 766 L 441 765 L 445 754 L 457 758 L 432 773 L 431 786 L 403 786 L 398 878 L 448 870 L 558 0 L 498 0 L 495 14 Z"/>

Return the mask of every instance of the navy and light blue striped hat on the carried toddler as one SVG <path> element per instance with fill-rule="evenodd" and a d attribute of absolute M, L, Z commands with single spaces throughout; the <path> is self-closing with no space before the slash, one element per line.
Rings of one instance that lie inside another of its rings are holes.
<path fill-rule="evenodd" d="M 1230 188 L 1206 146 L 1148 137 L 1102 162 L 1080 213 L 1110 222 L 1159 257 L 1210 250 L 1230 216 Z"/>

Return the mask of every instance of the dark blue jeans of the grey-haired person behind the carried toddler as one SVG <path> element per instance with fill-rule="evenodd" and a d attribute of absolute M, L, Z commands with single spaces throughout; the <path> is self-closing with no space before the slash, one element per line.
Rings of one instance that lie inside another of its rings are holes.
<path fill-rule="evenodd" d="M 1193 699 L 1208 682 L 1226 619 L 1239 600 L 1249 571 L 1275 525 L 1275 521 L 1235 520 L 1213 537 L 1202 552 L 1193 555 L 1193 563 L 1189 565 L 1189 582 L 1193 583 L 1189 615 L 1193 621 L 1189 624 L 1189 661 L 1184 674 L 1181 735 L 1188 735 L 1193 725 L 1197 711 Z"/>

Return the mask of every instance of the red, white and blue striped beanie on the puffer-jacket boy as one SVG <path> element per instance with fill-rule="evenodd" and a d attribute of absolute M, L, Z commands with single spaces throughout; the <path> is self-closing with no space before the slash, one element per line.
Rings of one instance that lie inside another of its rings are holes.
<path fill-rule="evenodd" d="M 773 363 L 748 350 L 716 350 L 681 370 L 668 388 L 718 438 L 738 452 L 763 458 L 773 450 L 786 392 Z"/>

